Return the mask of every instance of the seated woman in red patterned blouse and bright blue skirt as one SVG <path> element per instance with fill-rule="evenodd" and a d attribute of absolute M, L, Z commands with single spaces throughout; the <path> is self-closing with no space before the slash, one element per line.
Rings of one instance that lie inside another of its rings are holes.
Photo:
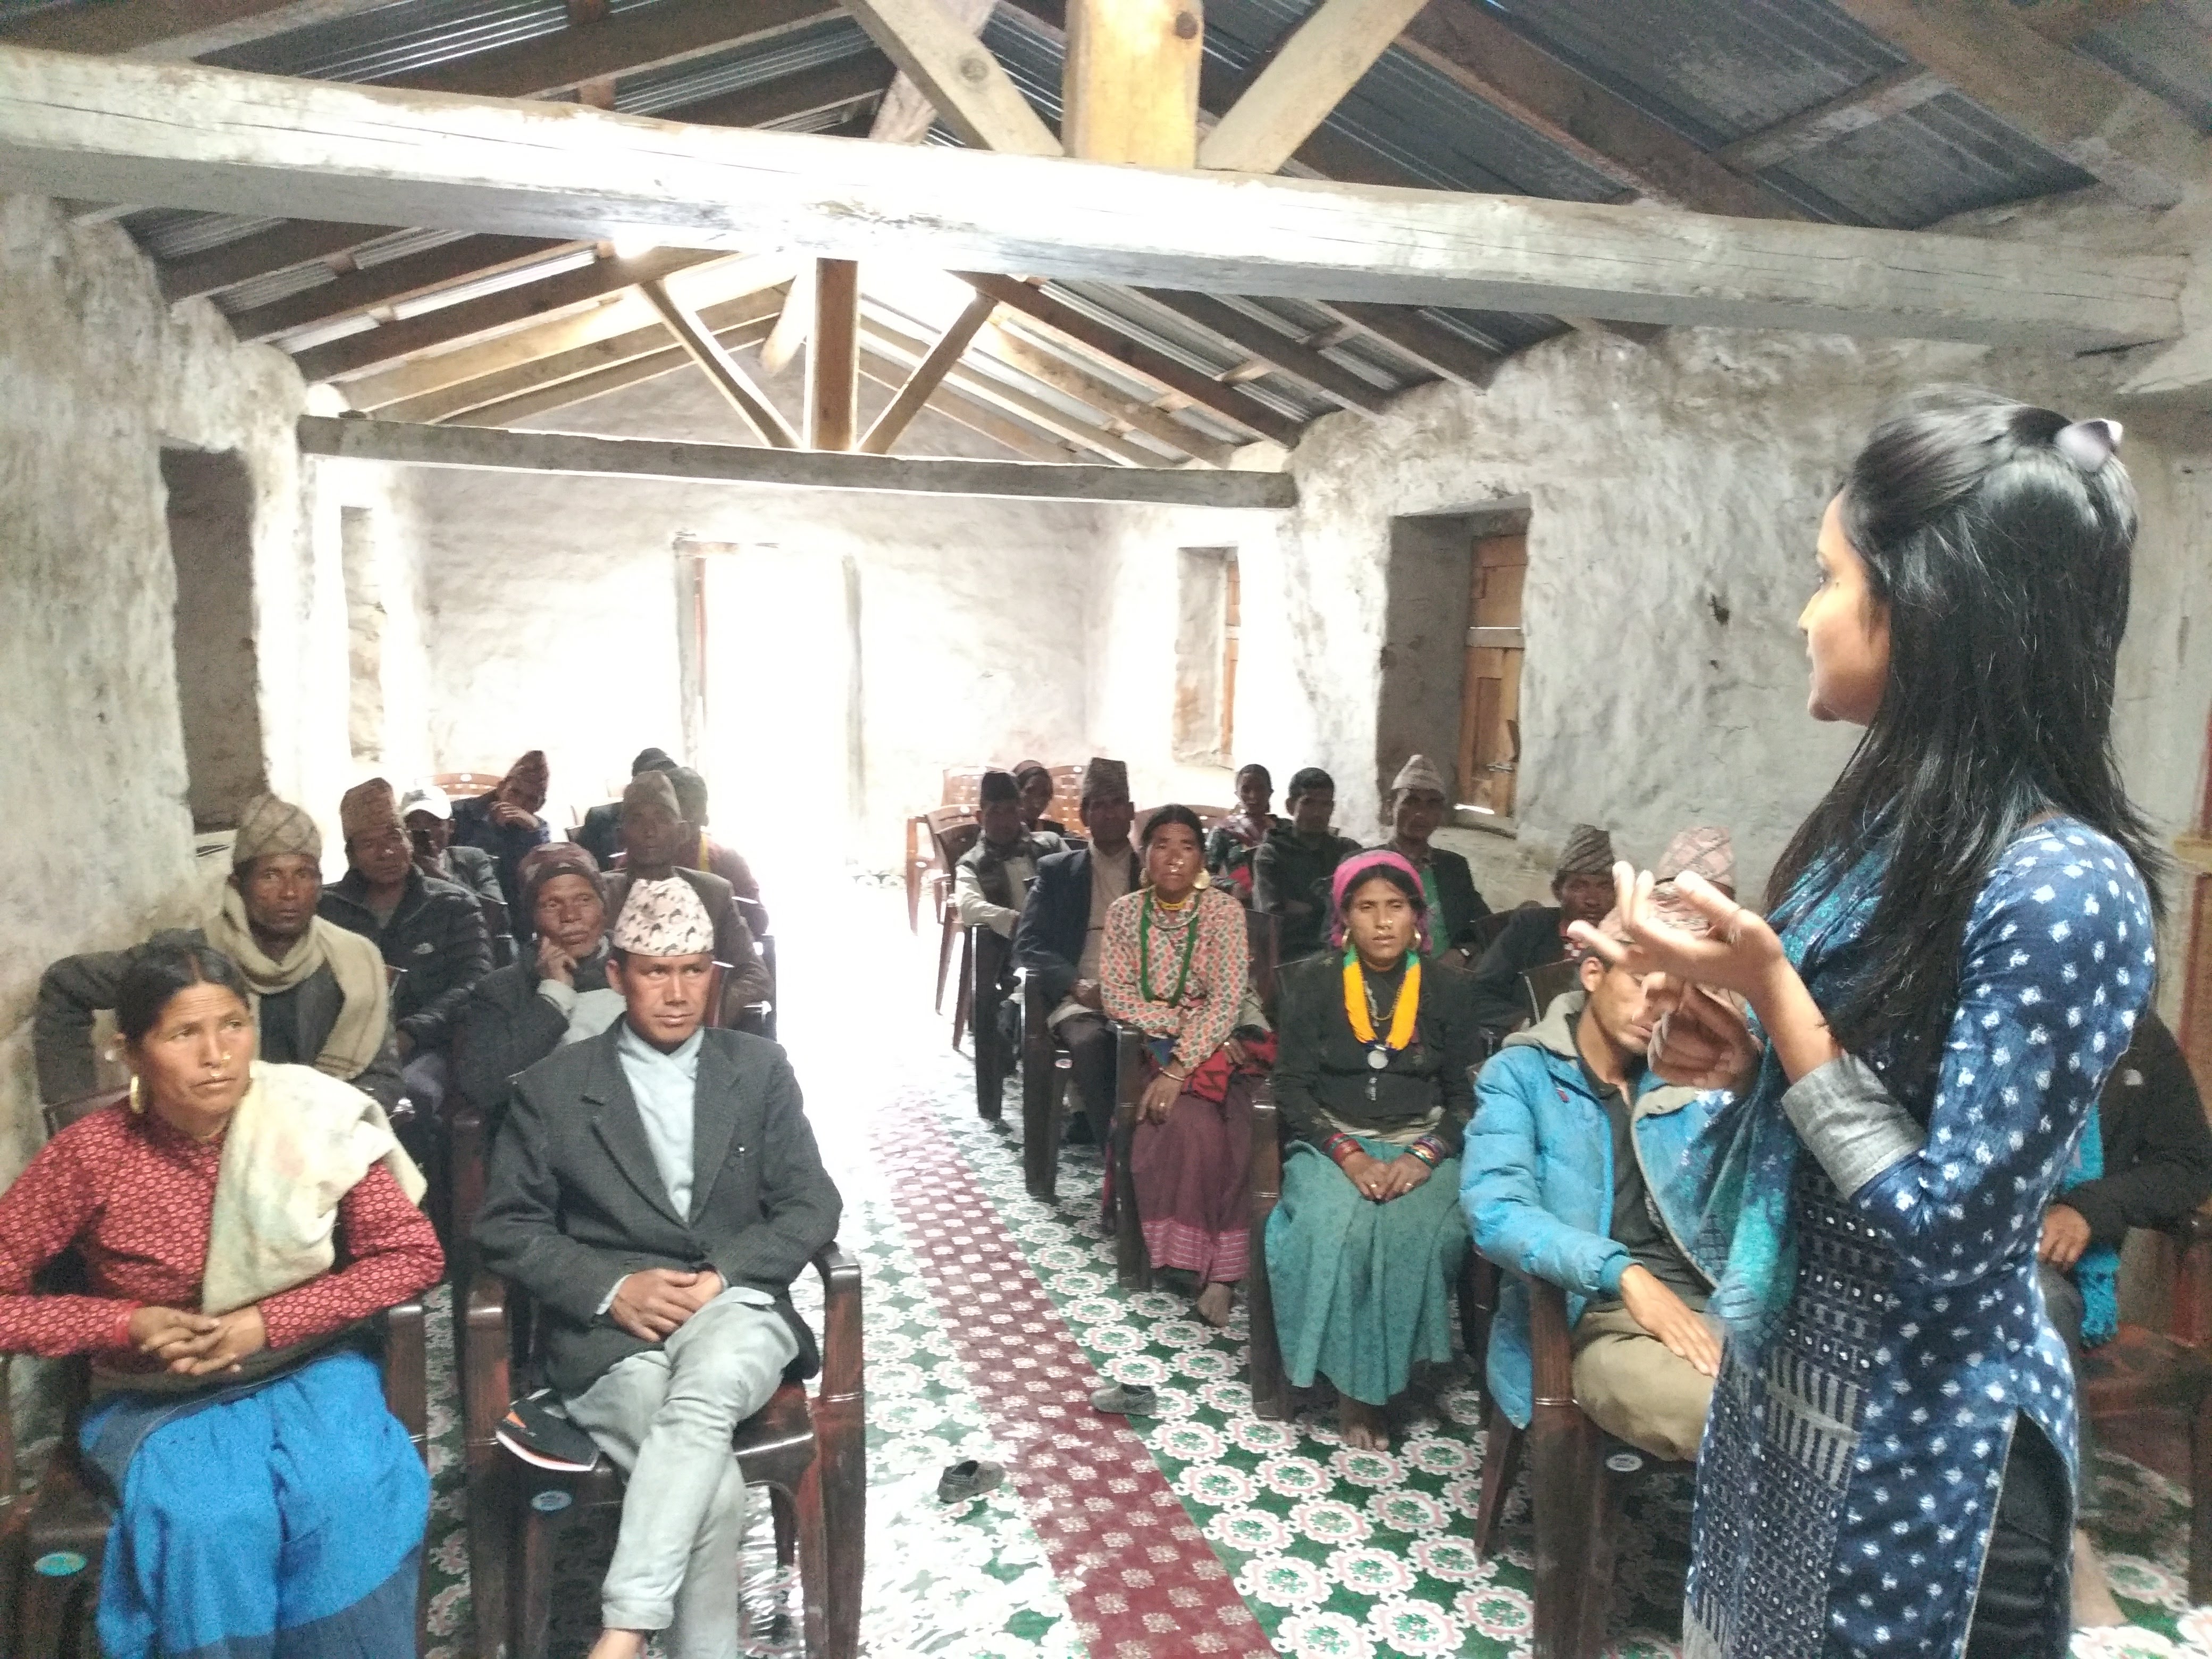
<path fill-rule="evenodd" d="M 367 1095 L 254 1060 L 219 951 L 142 953 L 115 1020 L 128 1106 L 64 1128 L 0 1194 L 0 1349 L 93 1358 L 80 1444 L 119 1500 L 102 1648 L 312 1624 L 411 1652 L 429 1482 L 343 1334 L 445 1267 L 403 1188 L 420 1177 Z M 84 1290 L 38 1292 L 64 1252 Z"/>

